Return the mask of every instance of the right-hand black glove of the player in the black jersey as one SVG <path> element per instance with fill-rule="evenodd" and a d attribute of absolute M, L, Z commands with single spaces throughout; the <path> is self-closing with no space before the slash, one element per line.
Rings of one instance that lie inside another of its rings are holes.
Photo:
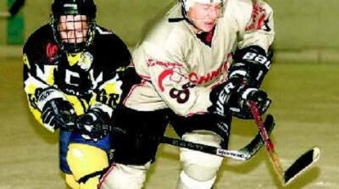
<path fill-rule="evenodd" d="M 110 132 L 110 116 L 98 108 L 92 108 L 78 116 L 76 125 L 85 139 L 98 141 Z"/>

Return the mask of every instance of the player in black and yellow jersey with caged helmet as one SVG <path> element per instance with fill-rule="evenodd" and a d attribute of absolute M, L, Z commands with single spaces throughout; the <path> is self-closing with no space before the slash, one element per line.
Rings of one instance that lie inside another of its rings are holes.
<path fill-rule="evenodd" d="M 108 167 L 109 136 L 131 55 L 123 41 L 97 25 L 93 0 L 55 0 L 51 23 L 23 49 L 30 111 L 48 130 L 60 129 L 60 168 L 68 185 L 96 189 Z"/>

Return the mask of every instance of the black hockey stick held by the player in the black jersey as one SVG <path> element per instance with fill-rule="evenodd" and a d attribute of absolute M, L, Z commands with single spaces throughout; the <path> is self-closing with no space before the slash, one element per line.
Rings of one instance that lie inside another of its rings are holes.
<path fill-rule="evenodd" d="M 272 115 L 268 115 L 266 117 L 265 123 L 263 123 L 265 129 L 268 131 L 268 133 L 271 133 L 275 126 L 274 118 Z M 130 134 L 120 128 L 117 127 L 112 127 L 111 130 L 116 133 L 121 133 L 121 134 Z M 167 136 L 151 136 L 151 135 L 145 135 L 142 133 L 135 133 L 133 135 L 136 135 L 137 137 L 141 138 L 149 138 L 154 141 L 157 141 L 158 143 L 162 144 L 168 144 L 176 147 L 182 147 L 182 148 L 187 148 L 191 150 L 196 150 L 208 154 L 213 154 L 221 157 L 227 157 L 227 158 L 232 158 L 235 160 L 241 160 L 241 161 L 246 161 L 249 160 L 251 157 L 253 157 L 262 146 L 264 146 L 264 141 L 258 133 L 255 138 L 253 138 L 250 143 L 248 143 L 245 147 L 241 148 L 240 150 L 225 150 L 213 146 L 207 146 L 207 145 L 202 145 L 202 144 L 197 144 L 197 143 L 192 143 L 190 141 L 185 141 L 182 139 L 177 139 L 177 138 L 171 138 Z M 132 135 L 132 136 L 133 136 Z"/>

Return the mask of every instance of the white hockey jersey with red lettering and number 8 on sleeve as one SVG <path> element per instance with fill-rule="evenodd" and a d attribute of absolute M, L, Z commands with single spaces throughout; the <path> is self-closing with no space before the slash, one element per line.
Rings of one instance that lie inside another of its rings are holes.
<path fill-rule="evenodd" d="M 143 78 L 124 100 L 139 111 L 171 108 L 176 114 L 203 114 L 211 105 L 211 88 L 227 80 L 236 49 L 250 45 L 268 50 L 274 38 L 273 12 L 261 1 L 228 0 L 218 19 L 211 45 L 203 43 L 176 4 L 133 52 L 136 72 Z"/>

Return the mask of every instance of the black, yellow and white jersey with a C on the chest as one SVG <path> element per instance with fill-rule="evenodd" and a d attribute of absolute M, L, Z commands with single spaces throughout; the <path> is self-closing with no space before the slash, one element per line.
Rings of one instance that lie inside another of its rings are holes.
<path fill-rule="evenodd" d="M 94 42 L 86 51 L 65 53 L 48 24 L 28 38 L 23 59 L 29 106 L 42 123 L 41 110 L 46 102 L 55 98 L 69 101 L 77 114 L 95 106 L 111 115 L 120 101 L 123 71 L 131 62 L 131 55 L 117 35 L 99 26 Z M 46 90 L 49 90 L 44 92 L 47 95 L 39 96 Z"/>

